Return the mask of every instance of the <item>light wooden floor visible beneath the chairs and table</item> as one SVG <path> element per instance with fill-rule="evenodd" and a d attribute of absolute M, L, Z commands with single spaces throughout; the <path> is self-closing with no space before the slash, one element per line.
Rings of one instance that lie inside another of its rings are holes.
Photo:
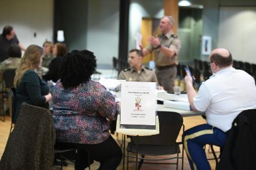
<path fill-rule="evenodd" d="M 2 116 L 0 117 L 2 118 Z M 204 124 L 205 120 L 201 116 L 194 116 L 194 117 L 184 117 L 184 125 L 185 129 L 189 129 L 193 126 L 199 125 L 199 124 Z M 2 157 L 3 151 L 5 150 L 6 142 L 9 137 L 9 132 L 10 132 L 10 117 L 6 116 L 5 122 L 0 120 L 0 158 Z M 115 140 L 119 140 L 118 142 L 121 142 L 121 137 L 117 139 L 116 135 L 113 135 Z M 179 135 L 179 138 L 177 141 L 180 141 L 181 139 L 181 133 Z M 218 150 L 218 148 L 216 148 Z M 212 158 L 212 154 L 208 152 L 208 147 L 206 149 L 208 158 Z M 184 154 L 185 155 L 185 154 Z M 98 162 L 95 162 L 91 165 L 91 169 L 97 169 L 100 164 Z M 213 160 L 210 160 L 210 166 L 212 169 L 215 169 L 215 162 Z M 130 163 L 129 164 L 129 169 L 135 169 L 134 164 Z M 119 167 L 117 168 L 122 169 L 122 162 L 120 163 Z M 60 169 L 58 166 L 55 166 L 55 169 Z M 64 170 L 71 170 L 74 169 L 74 165 L 71 162 L 68 162 L 68 167 L 64 167 Z M 87 170 L 88 168 L 86 168 Z M 125 168 L 126 169 L 126 168 Z M 158 169 L 158 170 L 164 170 L 164 169 L 176 169 L 175 165 L 158 165 L 158 164 L 143 164 L 141 170 L 152 170 L 152 169 Z M 179 162 L 179 169 L 181 169 L 181 161 Z M 184 169 L 190 169 L 188 160 L 187 160 L 187 155 L 184 156 Z"/>

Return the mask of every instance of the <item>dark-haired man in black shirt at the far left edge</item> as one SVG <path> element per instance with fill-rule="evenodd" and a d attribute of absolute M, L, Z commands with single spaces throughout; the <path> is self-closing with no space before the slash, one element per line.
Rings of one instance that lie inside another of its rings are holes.
<path fill-rule="evenodd" d="M 20 49 L 26 50 L 26 48 L 20 44 L 18 38 L 16 37 L 15 31 L 12 26 L 6 25 L 3 28 L 3 33 L 0 35 L 0 61 L 4 61 L 9 58 L 8 49 L 12 44 L 18 44 Z"/>

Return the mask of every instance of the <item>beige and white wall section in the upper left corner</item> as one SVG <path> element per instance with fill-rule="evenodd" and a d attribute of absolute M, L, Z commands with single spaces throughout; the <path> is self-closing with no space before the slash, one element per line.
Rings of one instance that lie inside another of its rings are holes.
<path fill-rule="evenodd" d="M 1 0 L 0 32 L 5 25 L 12 25 L 19 41 L 28 46 L 42 46 L 53 36 L 53 1 L 52 0 Z M 36 37 L 34 37 L 36 33 Z"/>

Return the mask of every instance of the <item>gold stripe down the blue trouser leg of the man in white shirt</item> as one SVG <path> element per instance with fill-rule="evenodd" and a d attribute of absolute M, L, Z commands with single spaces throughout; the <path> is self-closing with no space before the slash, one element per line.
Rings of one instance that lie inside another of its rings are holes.
<path fill-rule="evenodd" d="M 199 137 L 201 135 L 205 135 L 205 134 L 213 134 L 213 129 L 197 131 L 196 133 L 192 133 L 192 134 L 186 135 L 184 137 L 184 148 L 185 148 L 185 151 L 187 152 L 188 157 L 192 161 L 192 163 L 193 163 L 193 160 L 191 159 L 191 156 L 189 155 L 189 152 L 188 152 L 188 143 L 187 143 L 187 141 L 189 139 L 193 139 L 193 138 Z M 197 169 L 195 163 L 193 163 L 193 167 L 194 167 L 195 170 Z"/>

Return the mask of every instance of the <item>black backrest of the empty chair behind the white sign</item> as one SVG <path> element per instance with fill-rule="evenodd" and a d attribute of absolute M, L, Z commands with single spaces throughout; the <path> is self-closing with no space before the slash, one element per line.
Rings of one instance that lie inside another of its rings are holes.
<path fill-rule="evenodd" d="M 158 118 L 160 133 L 146 137 L 131 136 L 131 139 L 135 144 L 164 146 L 175 145 L 180 128 L 183 124 L 183 117 L 176 112 L 158 112 Z"/>

